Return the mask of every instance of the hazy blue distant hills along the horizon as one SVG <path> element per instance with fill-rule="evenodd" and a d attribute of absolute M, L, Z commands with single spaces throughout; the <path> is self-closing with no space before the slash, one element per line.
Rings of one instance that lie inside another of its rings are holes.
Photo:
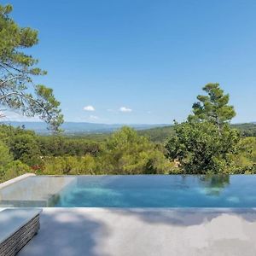
<path fill-rule="evenodd" d="M 5 125 L 13 125 L 15 127 L 24 125 L 26 129 L 36 131 L 38 134 L 49 134 L 47 125 L 44 122 L 2 122 Z M 94 123 L 75 123 L 65 122 L 61 128 L 66 135 L 83 135 L 83 134 L 102 134 L 110 133 L 119 130 L 122 124 L 106 125 L 106 124 L 94 124 Z M 166 126 L 163 125 L 129 125 L 136 130 L 147 130 L 154 127 Z"/>

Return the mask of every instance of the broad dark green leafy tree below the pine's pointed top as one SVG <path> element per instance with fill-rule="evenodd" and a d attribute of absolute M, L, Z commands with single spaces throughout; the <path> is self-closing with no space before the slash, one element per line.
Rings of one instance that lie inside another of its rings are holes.
<path fill-rule="evenodd" d="M 238 151 L 239 132 L 210 122 L 184 122 L 174 126 L 176 134 L 166 144 L 170 160 L 177 160 L 184 173 L 229 173 L 234 167 L 232 156 Z"/>

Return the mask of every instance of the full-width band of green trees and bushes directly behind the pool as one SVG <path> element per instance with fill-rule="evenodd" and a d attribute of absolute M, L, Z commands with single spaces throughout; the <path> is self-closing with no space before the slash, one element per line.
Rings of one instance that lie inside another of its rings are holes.
<path fill-rule="evenodd" d="M 174 128 L 182 137 L 171 137 L 172 143 L 167 144 L 169 157 L 177 148 L 183 151 L 172 155 L 169 161 L 163 143 L 154 143 L 128 127 L 102 141 L 94 141 L 91 137 L 43 137 L 33 131 L 0 125 L 0 180 L 25 172 L 55 175 L 256 172 L 256 137 L 241 138 L 236 147 L 231 147 L 239 133 L 229 126 L 224 129 L 232 131 L 230 137 L 224 138 L 218 137 L 218 129 L 212 124 L 187 122 Z M 216 152 L 214 156 L 212 151 Z"/>

